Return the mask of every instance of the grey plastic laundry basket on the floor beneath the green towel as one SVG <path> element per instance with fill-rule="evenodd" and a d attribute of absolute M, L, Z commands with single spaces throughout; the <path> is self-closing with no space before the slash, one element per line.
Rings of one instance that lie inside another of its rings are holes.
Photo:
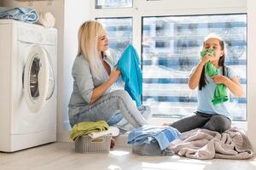
<path fill-rule="evenodd" d="M 80 153 L 104 153 L 109 152 L 111 135 L 92 139 L 88 135 L 80 136 L 75 141 L 75 151 Z"/>

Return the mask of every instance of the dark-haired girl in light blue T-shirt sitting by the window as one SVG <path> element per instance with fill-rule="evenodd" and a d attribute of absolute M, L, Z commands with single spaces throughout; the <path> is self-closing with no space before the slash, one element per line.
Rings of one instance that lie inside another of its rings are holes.
<path fill-rule="evenodd" d="M 197 111 L 193 116 L 170 124 L 171 127 L 177 128 L 181 133 L 198 127 L 223 133 L 230 128 L 232 120 L 232 113 L 230 113 L 228 106 L 230 99 L 226 97 L 226 99 L 218 101 L 217 104 L 214 103 L 213 96 L 218 85 L 224 87 L 226 96 L 229 96 L 229 91 L 237 97 L 242 96 L 242 88 L 236 72 L 230 66 L 224 65 L 223 40 L 220 37 L 209 35 L 203 43 L 203 50 L 205 53 L 202 53 L 200 62 L 192 69 L 189 77 L 189 88 L 198 87 Z M 215 76 L 210 77 L 207 74 L 207 66 L 209 65 L 212 65 L 212 68 L 216 70 Z"/>

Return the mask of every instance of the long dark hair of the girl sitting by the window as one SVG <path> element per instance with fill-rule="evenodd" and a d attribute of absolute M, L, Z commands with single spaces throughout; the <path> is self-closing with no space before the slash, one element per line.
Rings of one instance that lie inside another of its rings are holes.
<path fill-rule="evenodd" d="M 210 39 L 210 38 L 216 38 L 218 39 L 218 42 L 219 42 L 219 45 L 220 45 L 220 48 L 221 50 L 224 50 L 224 41 L 222 40 L 221 37 L 218 37 L 217 35 L 215 34 L 209 34 L 206 38 L 205 38 L 205 41 L 204 41 L 204 45 L 205 45 L 205 42 Z M 221 56 L 219 59 L 218 59 L 218 66 L 222 66 L 222 72 L 223 72 L 223 75 L 225 75 L 225 72 L 224 72 L 224 62 L 225 62 L 225 54 L 223 54 L 223 56 Z M 207 79 L 206 79 L 206 76 L 205 76 L 205 67 L 203 67 L 203 70 L 201 71 L 201 77 L 200 77 L 200 82 L 199 82 L 199 90 L 201 90 L 201 88 L 204 88 L 205 86 L 207 85 Z"/>

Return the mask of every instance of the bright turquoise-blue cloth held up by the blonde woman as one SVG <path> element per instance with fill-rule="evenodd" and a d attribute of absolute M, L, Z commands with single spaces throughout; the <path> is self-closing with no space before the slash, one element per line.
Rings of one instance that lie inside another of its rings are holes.
<path fill-rule="evenodd" d="M 129 44 L 119 58 L 118 69 L 121 71 L 122 81 L 125 82 L 125 91 L 136 101 L 137 106 L 142 105 L 143 94 L 143 74 L 139 65 L 137 51 Z"/>

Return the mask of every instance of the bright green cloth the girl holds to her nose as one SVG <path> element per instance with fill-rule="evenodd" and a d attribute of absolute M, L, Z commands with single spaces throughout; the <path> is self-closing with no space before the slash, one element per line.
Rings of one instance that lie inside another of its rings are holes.
<path fill-rule="evenodd" d="M 204 57 L 205 54 L 207 54 L 207 52 L 209 52 L 209 54 L 212 55 L 214 53 L 214 50 L 203 50 L 201 52 L 201 57 Z M 214 65 L 212 65 L 211 62 L 207 62 L 207 64 L 205 65 L 205 71 L 209 77 L 218 75 L 218 69 Z M 212 104 L 217 105 L 219 103 L 227 101 L 228 99 L 229 97 L 227 96 L 226 93 L 226 86 L 224 84 L 217 84 L 213 94 Z"/>

